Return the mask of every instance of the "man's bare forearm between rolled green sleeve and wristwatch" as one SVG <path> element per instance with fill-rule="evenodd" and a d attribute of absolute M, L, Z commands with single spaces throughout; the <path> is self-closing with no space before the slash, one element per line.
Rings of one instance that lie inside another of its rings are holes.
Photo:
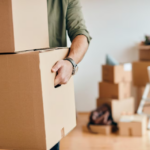
<path fill-rule="evenodd" d="M 72 41 L 68 57 L 72 58 L 75 61 L 75 63 L 78 64 L 83 59 L 88 49 L 88 46 L 89 44 L 86 36 L 76 36 L 76 38 Z"/>

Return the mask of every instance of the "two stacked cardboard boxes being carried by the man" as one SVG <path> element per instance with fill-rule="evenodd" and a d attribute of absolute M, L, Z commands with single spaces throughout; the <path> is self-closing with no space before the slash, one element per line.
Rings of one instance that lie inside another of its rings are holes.
<path fill-rule="evenodd" d="M 0 148 L 49 150 L 76 114 L 73 79 L 55 89 L 51 73 L 68 48 L 32 51 L 49 47 L 47 0 L 1 0 L 0 33 Z"/>

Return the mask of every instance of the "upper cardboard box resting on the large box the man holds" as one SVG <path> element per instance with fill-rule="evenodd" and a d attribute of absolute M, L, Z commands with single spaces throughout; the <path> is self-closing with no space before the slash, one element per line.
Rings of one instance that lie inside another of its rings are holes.
<path fill-rule="evenodd" d="M 0 0 L 0 53 L 49 48 L 47 0 Z"/>

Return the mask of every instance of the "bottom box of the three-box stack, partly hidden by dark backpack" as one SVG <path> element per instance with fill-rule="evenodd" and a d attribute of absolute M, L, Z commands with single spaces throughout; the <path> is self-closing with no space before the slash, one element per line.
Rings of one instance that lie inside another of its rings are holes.
<path fill-rule="evenodd" d="M 134 114 L 135 112 L 135 100 L 133 97 L 121 101 L 116 99 L 97 99 L 97 107 L 104 103 L 111 106 L 112 116 L 115 122 L 119 122 L 123 113 Z"/>

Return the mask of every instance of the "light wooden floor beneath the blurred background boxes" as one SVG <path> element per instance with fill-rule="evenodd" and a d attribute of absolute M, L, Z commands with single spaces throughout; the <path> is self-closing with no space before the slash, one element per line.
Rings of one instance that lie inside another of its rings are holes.
<path fill-rule="evenodd" d="M 143 137 L 83 133 L 87 120 L 87 114 L 78 115 L 77 127 L 61 141 L 60 150 L 150 150 L 150 131 Z"/>

